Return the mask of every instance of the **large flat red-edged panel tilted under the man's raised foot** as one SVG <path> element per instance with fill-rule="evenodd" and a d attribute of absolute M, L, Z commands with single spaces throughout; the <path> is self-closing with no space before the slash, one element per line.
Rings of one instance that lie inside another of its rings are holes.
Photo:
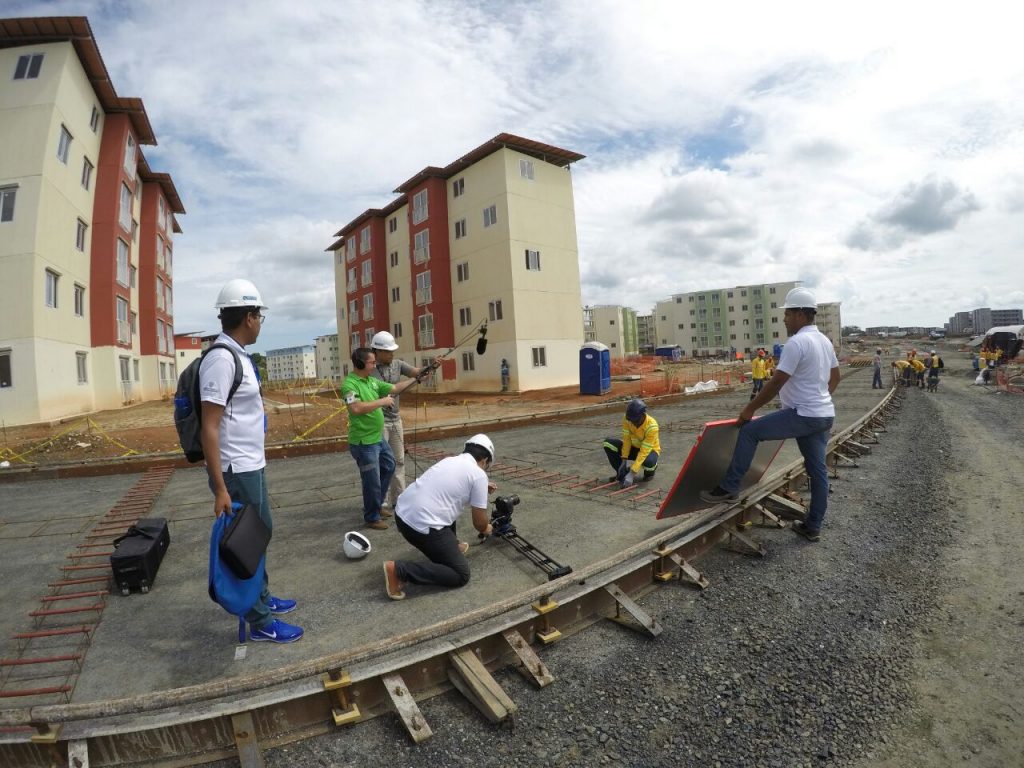
<path fill-rule="evenodd" d="M 732 459 L 732 451 L 736 446 L 738 435 L 739 429 L 736 427 L 735 419 L 711 421 L 705 424 L 700 434 L 697 435 L 697 441 L 693 443 L 689 456 L 686 457 L 683 468 L 679 470 L 672 490 L 665 497 L 657 510 L 658 520 L 696 512 L 708 506 L 707 502 L 700 501 L 697 494 L 701 490 L 711 490 L 722 479 Z M 758 445 L 751 468 L 743 476 L 740 492 L 761 482 L 761 478 L 768 471 L 768 465 L 775 459 L 784 441 L 765 440 Z"/>

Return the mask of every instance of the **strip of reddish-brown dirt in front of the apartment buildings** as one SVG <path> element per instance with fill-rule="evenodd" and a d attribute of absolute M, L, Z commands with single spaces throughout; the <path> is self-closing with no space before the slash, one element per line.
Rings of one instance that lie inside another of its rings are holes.
<path fill-rule="evenodd" d="M 679 391 L 701 376 L 720 379 L 725 384 L 726 378 L 729 382 L 738 380 L 741 371 L 742 367 L 736 364 L 689 362 L 656 369 L 647 366 L 643 372 L 638 371 L 635 379 L 613 380 L 611 390 L 602 395 L 580 394 L 579 386 L 507 394 L 412 391 L 401 396 L 401 413 L 408 431 L 428 425 L 487 421 L 628 397 L 650 397 L 670 389 Z M 265 393 L 264 402 L 269 417 L 268 445 L 347 433 L 346 416 L 336 390 L 270 390 Z M 12 467 L 177 451 L 173 406 L 169 399 L 103 411 L 55 425 L 6 427 L 0 432 L 0 459 L 10 461 Z"/>

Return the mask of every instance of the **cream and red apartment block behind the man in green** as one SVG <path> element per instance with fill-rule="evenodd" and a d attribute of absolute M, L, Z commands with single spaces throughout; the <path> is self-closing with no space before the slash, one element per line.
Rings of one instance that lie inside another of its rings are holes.
<path fill-rule="evenodd" d="M 580 264 L 568 150 L 502 133 L 399 184 L 335 233 L 339 355 L 390 331 L 427 387 L 501 390 L 579 382 Z M 486 330 L 484 354 L 475 342 Z M 453 350 L 453 347 L 455 349 Z"/>

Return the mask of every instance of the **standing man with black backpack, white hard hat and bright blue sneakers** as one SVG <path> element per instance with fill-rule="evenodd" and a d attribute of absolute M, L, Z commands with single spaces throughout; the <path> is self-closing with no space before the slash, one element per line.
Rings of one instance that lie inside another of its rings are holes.
<path fill-rule="evenodd" d="M 266 489 L 266 454 L 263 439 L 266 416 L 260 392 L 259 373 L 245 348 L 256 343 L 263 327 L 266 304 L 256 286 L 247 280 L 232 280 L 217 296 L 221 334 L 199 369 L 199 391 L 203 401 L 200 439 L 213 492 L 213 513 L 231 509 L 231 502 L 253 507 L 269 529 L 270 498 Z M 242 381 L 232 392 L 236 366 Z M 259 600 L 245 615 L 249 637 L 254 641 L 291 643 L 302 637 L 302 628 L 273 617 L 295 610 L 295 600 L 270 594 L 265 571 Z"/>

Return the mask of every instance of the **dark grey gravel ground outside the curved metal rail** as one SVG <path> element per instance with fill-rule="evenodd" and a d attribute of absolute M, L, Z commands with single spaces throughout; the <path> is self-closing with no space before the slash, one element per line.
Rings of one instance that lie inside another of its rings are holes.
<path fill-rule="evenodd" d="M 1024 399 L 947 373 L 841 469 L 820 543 L 755 528 L 765 558 L 716 551 L 708 590 L 641 601 L 657 639 L 604 623 L 542 651 L 543 690 L 499 674 L 514 729 L 450 693 L 421 745 L 388 716 L 267 766 L 1024 765 Z"/>

